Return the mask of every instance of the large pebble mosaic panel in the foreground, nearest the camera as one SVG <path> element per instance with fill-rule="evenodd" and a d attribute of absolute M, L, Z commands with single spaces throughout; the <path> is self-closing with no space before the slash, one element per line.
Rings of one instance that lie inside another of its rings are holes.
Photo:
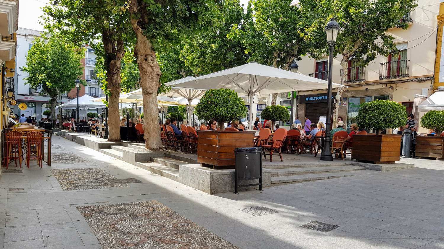
<path fill-rule="evenodd" d="M 103 249 L 238 249 L 158 201 L 77 206 Z"/>

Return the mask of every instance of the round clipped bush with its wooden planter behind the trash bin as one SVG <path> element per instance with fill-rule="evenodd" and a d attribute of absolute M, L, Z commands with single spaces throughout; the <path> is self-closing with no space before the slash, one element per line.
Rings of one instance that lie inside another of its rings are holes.
<path fill-rule="evenodd" d="M 213 168 L 234 167 L 234 149 L 253 147 L 254 132 L 224 131 L 224 123 L 246 116 L 247 108 L 238 93 L 230 89 L 210 89 L 201 97 L 194 113 L 215 120 L 219 131 L 198 131 L 198 162 Z"/>

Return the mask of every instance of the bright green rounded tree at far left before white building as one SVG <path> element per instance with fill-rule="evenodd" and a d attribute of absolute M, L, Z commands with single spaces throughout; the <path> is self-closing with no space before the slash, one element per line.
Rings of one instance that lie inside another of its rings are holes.
<path fill-rule="evenodd" d="M 20 68 L 28 73 L 25 84 L 51 97 L 52 117 L 56 117 L 56 103 L 60 94 L 74 88 L 76 79 L 85 85 L 80 67 L 83 54 L 83 49 L 76 47 L 59 32 L 50 30 L 34 40 L 26 55 L 26 66 Z"/>

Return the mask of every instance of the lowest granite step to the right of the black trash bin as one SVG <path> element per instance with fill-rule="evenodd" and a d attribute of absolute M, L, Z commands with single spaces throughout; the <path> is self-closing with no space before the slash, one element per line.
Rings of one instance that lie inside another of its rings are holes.
<path fill-rule="evenodd" d="M 368 174 L 368 173 L 374 173 L 374 172 L 375 171 L 373 171 L 373 170 L 355 170 L 355 171 L 348 171 L 348 172 L 272 176 L 271 177 L 271 185 L 302 183 L 302 182 L 307 182 L 307 181 L 332 179 L 332 178 L 352 176 L 352 175 L 362 175 L 362 174 Z"/>

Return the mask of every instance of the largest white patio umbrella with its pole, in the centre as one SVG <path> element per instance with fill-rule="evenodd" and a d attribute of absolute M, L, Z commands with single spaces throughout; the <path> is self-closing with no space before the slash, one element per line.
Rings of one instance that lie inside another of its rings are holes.
<path fill-rule="evenodd" d="M 328 82 L 318 78 L 249 62 L 212 74 L 190 78 L 174 84 L 185 89 L 228 88 L 237 93 L 247 93 L 250 104 L 250 127 L 253 125 L 253 97 L 255 94 L 284 93 L 289 91 L 326 89 Z M 347 87 L 333 83 L 333 88 Z"/>

